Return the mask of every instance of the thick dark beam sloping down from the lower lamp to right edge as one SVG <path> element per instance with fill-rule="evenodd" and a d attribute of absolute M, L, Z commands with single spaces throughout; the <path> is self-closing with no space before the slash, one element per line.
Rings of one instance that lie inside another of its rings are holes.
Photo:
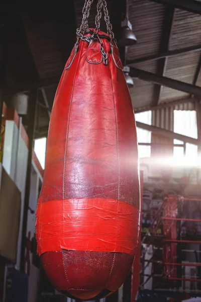
<path fill-rule="evenodd" d="M 162 85 L 165 87 L 169 87 L 175 90 L 183 91 L 188 94 L 192 94 L 197 97 L 201 97 L 201 87 L 194 86 L 191 84 L 187 84 L 181 81 L 173 80 L 170 78 L 162 77 L 161 75 L 148 72 L 145 70 L 141 70 L 138 68 L 131 67 L 130 75 L 133 78 L 138 78 L 140 80 Z"/>

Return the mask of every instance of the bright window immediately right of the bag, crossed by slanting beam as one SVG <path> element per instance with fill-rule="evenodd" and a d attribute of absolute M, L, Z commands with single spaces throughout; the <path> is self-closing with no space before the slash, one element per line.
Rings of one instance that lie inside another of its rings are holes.
<path fill-rule="evenodd" d="M 145 111 L 135 114 L 135 119 L 138 122 L 151 125 L 151 111 Z M 138 143 L 150 143 L 151 132 L 137 128 Z M 139 158 L 149 158 L 151 156 L 151 146 L 138 145 Z"/>

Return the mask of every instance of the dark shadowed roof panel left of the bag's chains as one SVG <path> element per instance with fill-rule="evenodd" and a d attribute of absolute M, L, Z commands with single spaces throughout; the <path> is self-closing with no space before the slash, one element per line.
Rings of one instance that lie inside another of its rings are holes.
<path fill-rule="evenodd" d="M 59 2 L 57 3 L 59 6 Z M 75 40 L 73 5 L 67 12 L 58 8 L 45 14 L 24 14 L 25 28 L 31 52 L 41 79 L 60 75 Z M 70 31 L 69 31 L 70 28 Z"/>

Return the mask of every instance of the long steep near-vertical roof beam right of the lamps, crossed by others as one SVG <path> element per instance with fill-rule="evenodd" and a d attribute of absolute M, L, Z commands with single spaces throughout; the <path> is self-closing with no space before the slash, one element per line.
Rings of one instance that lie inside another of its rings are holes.
<path fill-rule="evenodd" d="M 161 52 L 167 52 L 169 50 L 170 41 L 172 38 L 172 29 L 174 22 L 175 10 L 172 6 L 167 6 L 165 11 L 165 18 L 163 22 L 163 33 L 162 33 L 162 41 L 161 41 Z M 162 58 L 158 61 L 158 74 L 165 75 L 167 67 L 167 57 Z M 160 101 L 160 95 L 162 91 L 162 86 L 156 86 L 156 97 L 155 104 L 158 105 Z"/>

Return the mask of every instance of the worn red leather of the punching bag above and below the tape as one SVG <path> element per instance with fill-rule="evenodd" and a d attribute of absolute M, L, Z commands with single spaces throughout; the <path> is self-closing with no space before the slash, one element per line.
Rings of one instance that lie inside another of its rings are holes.
<path fill-rule="evenodd" d="M 108 65 L 99 62 L 98 44 L 87 52 L 89 44 L 80 41 L 63 71 L 50 120 L 42 202 L 99 197 L 140 207 L 131 97 L 110 42 L 103 43 Z M 92 52 L 98 64 L 89 62 Z M 133 262 L 128 254 L 90 251 L 47 252 L 41 259 L 54 286 L 81 299 L 117 290 Z"/>

